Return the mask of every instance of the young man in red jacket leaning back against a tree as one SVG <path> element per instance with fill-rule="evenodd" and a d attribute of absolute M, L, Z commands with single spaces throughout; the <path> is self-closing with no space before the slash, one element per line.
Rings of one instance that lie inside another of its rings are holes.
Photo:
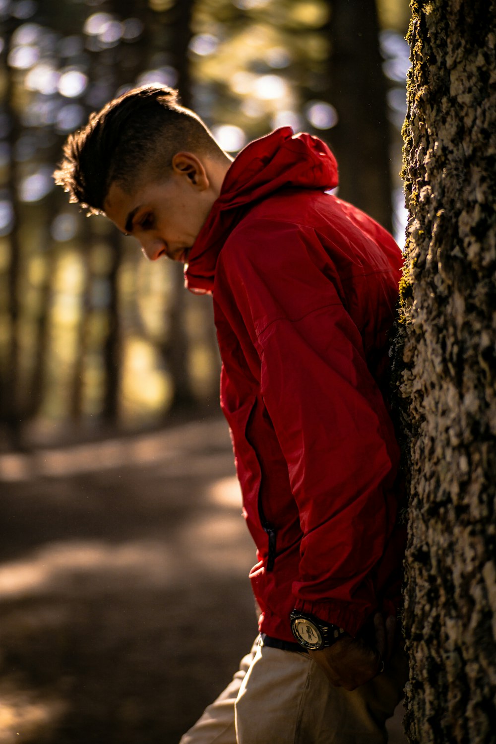
<path fill-rule="evenodd" d="M 398 246 L 327 193 L 323 142 L 284 127 L 231 161 L 170 89 L 113 100 L 64 153 L 71 201 L 213 295 L 261 635 L 182 744 L 384 742 L 405 682 L 399 452 L 381 394 Z"/>

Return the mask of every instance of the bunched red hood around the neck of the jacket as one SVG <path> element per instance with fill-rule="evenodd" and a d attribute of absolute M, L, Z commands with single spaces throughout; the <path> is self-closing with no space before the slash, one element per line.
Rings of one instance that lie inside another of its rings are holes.
<path fill-rule="evenodd" d="M 231 164 L 184 272 L 192 292 L 211 292 L 219 252 L 245 210 L 281 188 L 329 190 L 338 185 L 338 164 L 329 147 L 289 126 L 254 140 Z"/>

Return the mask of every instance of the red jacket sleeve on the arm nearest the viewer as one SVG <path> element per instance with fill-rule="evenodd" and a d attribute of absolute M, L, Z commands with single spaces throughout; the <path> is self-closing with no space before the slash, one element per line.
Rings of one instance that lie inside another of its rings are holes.
<path fill-rule="evenodd" d="M 337 276 L 310 258 L 312 236 L 277 239 L 284 250 L 266 245 L 263 260 L 260 240 L 257 251 L 236 246 L 223 270 L 260 357 L 260 391 L 300 514 L 295 606 L 355 635 L 376 607 L 397 447 Z"/>

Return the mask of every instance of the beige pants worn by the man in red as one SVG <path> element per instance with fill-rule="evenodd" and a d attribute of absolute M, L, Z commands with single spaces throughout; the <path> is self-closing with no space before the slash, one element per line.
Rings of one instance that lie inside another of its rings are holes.
<path fill-rule="evenodd" d="M 381 675 L 348 692 L 333 687 L 308 654 L 257 638 L 231 684 L 180 744 L 384 744 L 384 722 L 406 679 L 399 648 Z"/>

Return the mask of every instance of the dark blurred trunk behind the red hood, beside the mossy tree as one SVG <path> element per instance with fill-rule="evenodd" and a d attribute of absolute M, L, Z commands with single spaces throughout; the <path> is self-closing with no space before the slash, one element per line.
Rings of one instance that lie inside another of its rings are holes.
<path fill-rule="evenodd" d="M 329 101 L 339 117 L 329 143 L 338 158 L 339 196 L 390 230 L 390 124 L 376 0 L 328 1 Z"/>

